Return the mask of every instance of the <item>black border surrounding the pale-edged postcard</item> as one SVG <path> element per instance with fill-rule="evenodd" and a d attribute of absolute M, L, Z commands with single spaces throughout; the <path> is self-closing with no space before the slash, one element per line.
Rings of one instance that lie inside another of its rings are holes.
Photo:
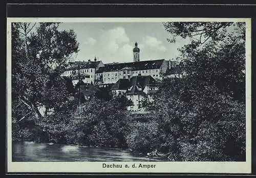
<path fill-rule="evenodd" d="M 78 4 L 68 4 L 63 3 L 63 1 L 55 1 L 55 4 L 51 4 L 53 2 L 45 1 L 47 4 L 31 4 L 31 3 L 40 3 L 39 0 L 35 1 L 27 1 L 23 2 L 23 4 L 18 4 L 20 1 L 12 1 L 9 4 L 6 4 L 5 10 L 6 10 L 6 17 L 221 17 L 221 18 L 251 18 L 251 25 L 252 25 L 252 34 L 251 34 L 251 72 L 252 72 L 252 118 L 251 118 L 251 141 L 252 141 L 252 172 L 251 174 L 207 174 L 207 173 L 154 173 L 151 175 L 209 175 L 209 176 L 220 176 L 220 175 L 232 175 L 232 176 L 242 176 L 242 175 L 255 175 L 256 174 L 256 153 L 255 153 L 255 128 L 253 126 L 256 126 L 256 118 L 254 117 L 254 98 L 255 94 L 253 92 L 253 83 L 254 83 L 254 76 L 255 72 L 253 69 L 255 69 L 255 53 L 253 52 L 253 49 L 256 49 L 255 45 L 255 37 L 256 37 L 256 6 L 253 4 L 239 4 L 238 1 L 229 1 L 232 4 L 220 4 L 223 3 L 223 1 L 215 1 L 212 4 L 200 4 L 203 3 L 202 1 L 194 1 L 194 4 L 187 4 L 188 2 L 191 3 L 191 1 L 176 1 L 173 4 L 166 4 L 166 2 L 161 2 L 160 4 L 156 3 L 150 3 L 147 1 L 147 4 L 143 4 L 145 2 L 141 2 L 141 4 L 133 4 L 135 1 L 129 1 L 126 2 L 122 1 L 122 3 L 102 3 L 101 1 L 97 3 L 101 4 L 95 4 L 95 1 L 87 1 L 87 3 L 91 4 L 79 4 L 81 1 L 73 1 L 72 3 L 78 3 Z M 177 3 L 179 2 L 179 4 Z M 227 2 L 227 1 L 226 1 Z M 251 3 L 253 1 L 243 1 L 243 3 Z M 16 3 L 16 4 L 13 4 Z M 61 3 L 61 4 L 56 4 Z M 127 4 L 130 3 L 130 4 Z M 137 1 L 138 3 L 138 1 Z M 205 3 L 205 2 L 204 2 Z M 237 3 L 237 4 L 234 4 Z M 241 1 L 240 1 L 241 3 Z M 6 22 L 4 24 L 4 34 L 6 37 Z M 6 44 L 6 41 L 5 41 Z M 4 51 L 6 52 L 6 45 L 4 44 Z M 6 57 L 6 53 L 5 57 Z M 6 63 L 5 63 L 6 64 Z M 6 66 L 6 65 L 5 65 Z M 6 70 L 6 67 L 3 71 Z M 6 78 L 6 73 L 4 74 Z M 7 88 L 5 88 L 7 90 Z M 6 96 L 4 97 L 6 99 Z M 4 100 L 5 104 L 6 101 Z M 5 117 L 6 118 L 6 117 Z M 3 125 L 6 125 L 6 121 L 4 121 Z M 6 134 L 6 127 L 2 129 L 3 134 Z M 3 146 L 4 153 L 2 158 L 6 157 L 6 145 Z M 147 175 L 147 173 L 89 173 L 89 172 L 83 172 L 83 173 L 13 173 L 13 172 L 7 172 L 7 160 L 5 159 L 5 174 L 6 175 L 54 175 L 54 176 L 62 176 L 63 174 L 68 176 L 74 176 L 74 175 Z"/>

